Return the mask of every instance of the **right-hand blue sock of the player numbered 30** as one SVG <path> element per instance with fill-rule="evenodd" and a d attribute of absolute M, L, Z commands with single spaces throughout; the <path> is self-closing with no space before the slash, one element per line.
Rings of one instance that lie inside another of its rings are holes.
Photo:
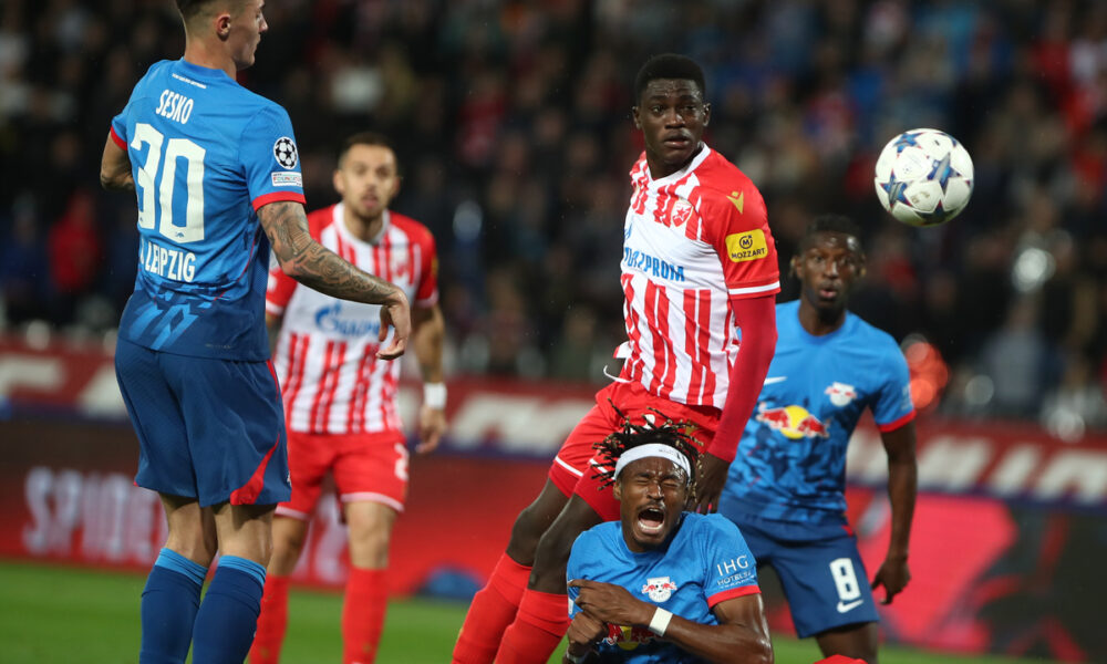
<path fill-rule="evenodd" d="M 254 643 L 265 585 L 266 568 L 257 562 L 237 556 L 219 559 L 192 629 L 195 664 L 242 664 Z"/>

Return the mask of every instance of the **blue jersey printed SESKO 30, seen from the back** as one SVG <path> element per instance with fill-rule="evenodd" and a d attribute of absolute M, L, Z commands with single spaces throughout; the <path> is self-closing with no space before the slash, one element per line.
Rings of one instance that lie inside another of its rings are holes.
<path fill-rule="evenodd" d="M 112 120 L 138 199 L 138 273 L 120 334 L 183 355 L 269 356 L 269 240 L 257 209 L 304 203 L 288 113 L 224 71 L 154 64 Z"/>

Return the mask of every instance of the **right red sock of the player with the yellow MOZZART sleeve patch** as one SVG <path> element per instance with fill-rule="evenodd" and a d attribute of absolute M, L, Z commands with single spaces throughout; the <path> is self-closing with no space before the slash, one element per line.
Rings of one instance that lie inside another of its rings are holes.
<path fill-rule="evenodd" d="M 566 593 L 527 590 L 515 622 L 504 632 L 496 664 L 545 664 L 569 630 Z"/>

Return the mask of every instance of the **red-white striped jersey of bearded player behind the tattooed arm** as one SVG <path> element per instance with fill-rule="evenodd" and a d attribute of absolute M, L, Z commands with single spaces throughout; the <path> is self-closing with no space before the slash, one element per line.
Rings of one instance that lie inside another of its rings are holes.
<path fill-rule="evenodd" d="M 438 266 L 431 231 L 414 219 L 385 211 L 381 232 L 366 242 L 346 229 L 342 207 L 340 203 L 308 215 L 311 237 L 403 289 L 413 308 L 435 304 Z M 283 315 L 273 364 L 289 429 L 314 434 L 401 430 L 396 411 L 400 361 L 376 357 L 379 305 L 324 295 L 276 267 L 269 272 L 266 312 Z"/>

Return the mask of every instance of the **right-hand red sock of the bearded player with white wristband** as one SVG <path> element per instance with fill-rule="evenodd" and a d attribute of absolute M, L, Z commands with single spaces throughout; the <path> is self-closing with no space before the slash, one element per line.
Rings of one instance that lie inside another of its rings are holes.
<path fill-rule="evenodd" d="M 342 605 L 342 664 L 370 664 L 376 658 L 389 608 L 387 585 L 386 570 L 350 568 Z"/>

